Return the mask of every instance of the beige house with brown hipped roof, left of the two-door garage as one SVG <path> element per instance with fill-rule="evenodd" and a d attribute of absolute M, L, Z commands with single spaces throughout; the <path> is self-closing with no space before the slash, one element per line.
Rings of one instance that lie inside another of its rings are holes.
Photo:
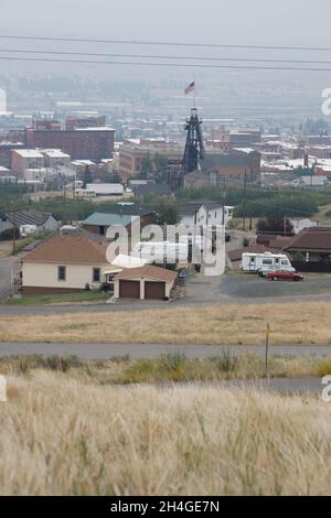
<path fill-rule="evenodd" d="M 106 259 L 107 244 L 83 233 L 57 235 L 22 260 L 23 294 L 68 293 L 98 289 L 121 268 Z"/>

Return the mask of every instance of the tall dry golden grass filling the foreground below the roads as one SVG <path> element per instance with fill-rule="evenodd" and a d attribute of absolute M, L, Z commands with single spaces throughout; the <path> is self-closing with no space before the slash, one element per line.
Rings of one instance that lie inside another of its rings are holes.
<path fill-rule="evenodd" d="M 9 377 L 0 495 L 325 495 L 331 404 L 253 389 Z"/>

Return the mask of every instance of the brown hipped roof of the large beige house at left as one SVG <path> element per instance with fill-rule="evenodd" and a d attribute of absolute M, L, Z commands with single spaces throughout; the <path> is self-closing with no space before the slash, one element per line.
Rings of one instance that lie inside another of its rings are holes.
<path fill-rule="evenodd" d="M 83 234 L 56 235 L 28 253 L 23 262 L 106 265 L 106 241 L 95 242 Z"/>

